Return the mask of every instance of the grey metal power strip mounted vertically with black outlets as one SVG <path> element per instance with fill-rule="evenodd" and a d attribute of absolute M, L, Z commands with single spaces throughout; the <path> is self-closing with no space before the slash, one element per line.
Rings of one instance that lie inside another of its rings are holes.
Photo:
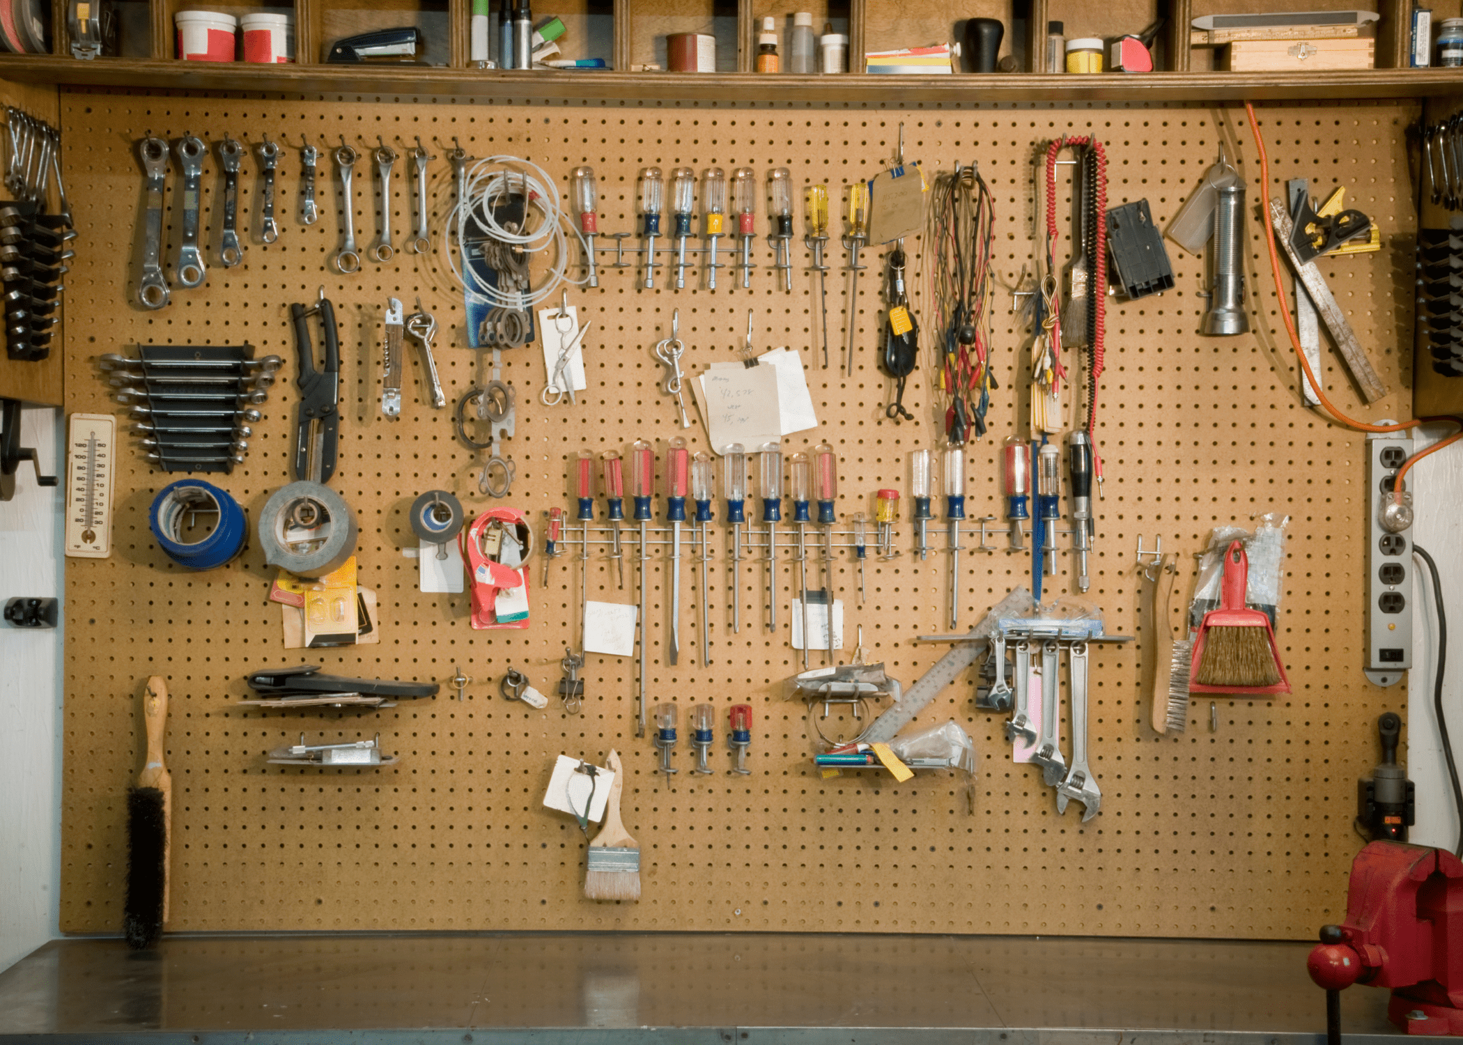
<path fill-rule="evenodd" d="M 1391 686 L 1412 667 L 1412 528 L 1390 533 L 1381 509 L 1412 457 L 1412 439 L 1394 432 L 1366 436 L 1366 678 Z M 1410 490 L 1409 490 L 1410 492 Z"/>

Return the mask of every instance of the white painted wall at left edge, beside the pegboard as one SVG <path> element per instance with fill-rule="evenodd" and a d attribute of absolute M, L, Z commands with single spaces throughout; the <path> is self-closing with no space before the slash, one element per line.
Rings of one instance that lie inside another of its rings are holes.
<path fill-rule="evenodd" d="M 22 446 L 54 476 L 61 413 L 22 411 Z M 64 482 L 64 479 L 63 479 Z M 12 501 L 0 501 L 0 603 L 61 594 L 61 487 L 41 489 L 20 465 Z M 60 922 L 61 629 L 0 622 L 0 969 L 54 938 Z"/>

